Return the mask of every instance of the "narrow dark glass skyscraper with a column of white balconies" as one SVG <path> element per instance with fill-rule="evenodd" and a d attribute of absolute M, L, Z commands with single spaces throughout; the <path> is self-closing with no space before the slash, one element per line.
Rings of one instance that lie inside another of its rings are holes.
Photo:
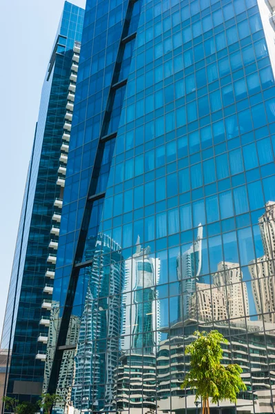
<path fill-rule="evenodd" d="M 1 347 L 10 362 L 5 393 L 42 392 L 63 186 L 84 10 L 65 1 L 41 94 L 19 224 Z"/>

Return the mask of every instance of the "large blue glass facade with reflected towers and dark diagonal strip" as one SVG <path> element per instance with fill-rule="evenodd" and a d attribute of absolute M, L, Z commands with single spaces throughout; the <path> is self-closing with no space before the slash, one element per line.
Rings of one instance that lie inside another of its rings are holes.
<path fill-rule="evenodd" d="M 45 384 L 65 395 L 57 413 L 194 412 L 184 349 L 213 328 L 247 391 L 212 411 L 274 413 L 272 12 L 88 0 Z"/>

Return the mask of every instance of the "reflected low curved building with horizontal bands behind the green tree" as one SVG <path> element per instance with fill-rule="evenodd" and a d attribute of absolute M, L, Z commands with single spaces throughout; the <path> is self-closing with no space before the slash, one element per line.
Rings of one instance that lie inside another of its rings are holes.
<path fill-rule="evenodd" d="M 214 324 L 198 323 L 192 321 L 177 323 L 170 327 L 170 337 L 161 341 L 157 352 L 157 395 L 159 411 L 166 411 L 172 404 L 173 411 L 194 406 L 194 393 L 185 391 L 180 385 L 184 373 L 189 369 L 190 359 L 185 355 L 184 348 L 194 340 L 195 328 L 210 331 L 217 329 L 230 339 L 230 344 L 223 347 L 223 364 L 231 364 L 232 359 L 243 368 L 243 381 L 247 391 L 238 396 L 238 406 L 245 413 L 272 413 L 271 390 L 269 381 L 270 360 L 266 353 L 262 322 L 242 320 Z M 275 351 L 274 335 L 267 335 L 267 349 L 272 354 Z M 272 365 L 274 366 L 274 364 Z M 275 375 L 271 373 L 272 381 Z M 170 403 L 171 395 L 171 403 Z M 254 406 L 253 406 L 254 404 Z M 214 408 L 215 404 L 210 405 Z M 230 402 L 222 402 L 221 407 L 234 407 Z"/>

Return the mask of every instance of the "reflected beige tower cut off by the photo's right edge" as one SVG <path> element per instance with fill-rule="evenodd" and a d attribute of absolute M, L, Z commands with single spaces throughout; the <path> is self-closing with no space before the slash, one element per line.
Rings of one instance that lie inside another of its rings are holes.
<path fill-rule="evenodd" d="M 275 202 L 265 204 L 265 213 L 258 219 L 265 255 L 249 263 L 254 302 L 260 319 L 275 323 Z"/>

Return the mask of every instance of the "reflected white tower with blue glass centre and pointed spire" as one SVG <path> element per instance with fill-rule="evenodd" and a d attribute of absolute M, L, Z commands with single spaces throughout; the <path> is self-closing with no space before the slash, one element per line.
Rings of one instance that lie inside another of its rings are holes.
<path fill-rule="evenodd" d="M 116 373 L 121 409 L 156 407 L 159 301 L 155 286 L 159 283 L 161 262 L 150 253 L 150 246 L 141 248 L 138 237 L 135 253 L 125 260 L 123 337 Z"/>

